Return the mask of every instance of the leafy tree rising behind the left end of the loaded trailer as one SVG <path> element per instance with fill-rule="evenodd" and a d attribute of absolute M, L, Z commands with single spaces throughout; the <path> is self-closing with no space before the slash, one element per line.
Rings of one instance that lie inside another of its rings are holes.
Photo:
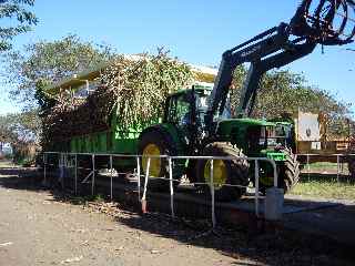
<path fill-rule="evenodd" d="M 37 108 L 38 103 L 48 102 L 42 101 L 47 85 L 108 62 L 113 54 L 111 47 L 84 42 L 73 34 L 28 44 L 6 55 L 4 75 L 12 88 L 10 95 L 26 109 Z"/>

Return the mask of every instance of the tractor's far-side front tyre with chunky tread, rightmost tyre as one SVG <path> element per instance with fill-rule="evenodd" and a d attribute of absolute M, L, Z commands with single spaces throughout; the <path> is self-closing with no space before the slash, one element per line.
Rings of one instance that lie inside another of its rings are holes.
<path fill-rule="evenodd" d="M 285 149 L 283 152 L 286 154 L 286 161 L 278 173 L 278 187 L 284 188 L 284 193 L 287 193 L 300 181 L 300 162 L 291 150 Z"/>

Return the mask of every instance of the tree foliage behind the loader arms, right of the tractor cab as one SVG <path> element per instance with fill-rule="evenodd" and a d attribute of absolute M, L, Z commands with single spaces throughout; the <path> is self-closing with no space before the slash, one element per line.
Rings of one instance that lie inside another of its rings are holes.
<path fill-rule="evenodd" d="M 244 68 L 237 69 L 234 73 L 235 90 L 231 95 L 233 110 L 239 104 L 245 74 Z M 336 100 L 327 91 L 310 86 L 302 74 L 291 71 L 266 73 L 262 79 L 252 116 L 271 120 L 287 116 L 285 114 L 296 114 L 298 110 L 327 114 L 329 133 L 333 135 L 348 133 L 345 117 L 351 116 L 349 105 Z"/>

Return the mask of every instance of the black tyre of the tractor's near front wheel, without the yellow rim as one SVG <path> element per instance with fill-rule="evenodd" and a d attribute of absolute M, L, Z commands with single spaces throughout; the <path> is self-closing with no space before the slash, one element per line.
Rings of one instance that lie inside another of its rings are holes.
<path fill-rule="evenodd" d="M 207 145 L 203 151 L 204 156 L 235 156 L 244 157 L 244 154 L 226 143 L 212 143 Z M 248 163 L 246 160 L 235 158 L 230 161 L 223 161 L 226 170 L 226 180 L 224 184 L 231 185 L 248 185 Z M 205 167 L 209 167 L 210 160 L 199 160 L 196 163 L 196 177 L 197 182 L 206 183 Z M 202 186 L 209 194 L 211 193 L 210 186 Z M 226 186 L 221 185 L 215 188 L 215 201 L 230 202 L 240 198 L 246 192 L 246 187 Z"/>

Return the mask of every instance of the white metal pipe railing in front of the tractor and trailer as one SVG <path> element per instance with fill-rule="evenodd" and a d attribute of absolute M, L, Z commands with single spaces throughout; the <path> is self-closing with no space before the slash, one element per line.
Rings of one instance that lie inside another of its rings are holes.
<path fill-rule="evenodd" d="M 277 168 L 276 168 L 276 163 L 273 160 L 266 158 L 266 157 L 237 157 L 237 156 L 169 156 L 169 155 L 151 155 L 151 156 L 143 156 L 143 155 L 126 155 L 126 154 L 103 154 L 103 153 L 59 153 L 59 152 L 44 152 L 43 153 L 43 177 L 44 177 L 44 183 L 47 182 L 47 166 L 50 165 L 48 164 L 48 156 L 58 154 L 60 157 L 60 163 L 59 167 L 60 171 L 62 172 L 64 167 L 74 168 L 74 194 L 78 194 L 78 155 L 83 155 L 83 156 L 91 156 L 91 162 L 92 162 L 92 170 L 89 175 L 85 176 L 83 182 L 87 182 L 91 177 L 91 194 L 94 194 L 94 187 L 95 187 L 95 157 L 99 156 L 109 156 L 109 164 L 110 164 L 110 197 L 111 201 L 113 200 L 113 158 L 134 158 L 136 163 L 136 168 L 134 170 L 135 176 L 138 177 L 138 196 L 139 201 L 142 203 L 142 208 L 143 205 L 145 207 L 145 201 L 146 201 L 146 192 L 148 192 L 148 183 L 149 180 L 154 178 L 154 180 L 166 180 L 166 182 L 170 182 L 170 208 L 171 208 L 171 216 L 175 217 L 175 212 L 174 212 L 174 186 L 173 186 L 173 161 L 174 160 L 211 160 L 211 168 L 210 168 L 210 183 L 193 183 L 195 185 L 209 185 L 210 191 L 211 191 L 211 219 L 213 227 L 216 225 L 216 218 L 215 218 L 215 185 L 213 180 L 213 162 L 214 160 L 223 160 L 223 161 L 231 161 L 231 160 L 242 160 L 242 161 L 248 161 L 248 162 L 254 162 L 254 178 L 255 178 L 255 193 L 254 193 L 254 204 L 255 204 L 255 215 L 258 217 L 260 216 L 260 162 L 266 162 L 270 163 L 273 167 L 273 177 L 274 177 L 274 187 L 277 187 Z M 68 156 L 72 156 L 74 160 L 73 165 L 68 163 Z M 146 160 L 146 171 L 144 173 L 144 186 L 143 186 L 143 195 L 141 197 L 141 160 L 142 157 L 148 158 Z M 151 177 L 150 176 L 150 167 L 151 167 L 151 160 L 152 158 L 164 158 L 168 160 L 169 164 L 169 177 Z M 64 175 L 63 175 L 64 176 Z M 88 182 L 90 183 L 90 182 Z M 223 186 L 232 186 L 232 187 L 243 187 L 247 188 L 248 185 L 243 186 L 243 185 L 233 185 L 233 184 L 224 184 Z"/>

